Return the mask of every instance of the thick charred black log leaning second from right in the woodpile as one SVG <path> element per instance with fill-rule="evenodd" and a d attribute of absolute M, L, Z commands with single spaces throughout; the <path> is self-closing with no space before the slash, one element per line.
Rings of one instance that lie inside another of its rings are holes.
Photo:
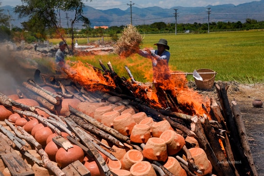
<path fill-rule="evenodd" d="M 235 160 L 234 161 L 229 160 L 229 161 L 235 163 L 235 167 L 240 175 L 245 175 L 245 173 L 252 173 L 252 169 L 249 165 L 248 159 L 244 154 L 244 151 L 242 150 L 240 136 L 227 97 L 226 86 L 216 85 L 216 90 L 218 93 L 218 97 L 220 99 L 220 104 L 222 106 L 221 108 L 223 110 L 223 114 L 225 117 L 227 130 L 230 131 L 228 136 Z"/>

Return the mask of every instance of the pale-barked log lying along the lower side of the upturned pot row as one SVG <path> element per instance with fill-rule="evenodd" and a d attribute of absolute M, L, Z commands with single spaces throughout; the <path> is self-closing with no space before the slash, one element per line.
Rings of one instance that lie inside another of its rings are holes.
<path fill-rule="evenodd" d="M 94 125 L 95 127 L 97 127 L 98 129 L 104 131 L 104 132 L 107 132 L 107 133 L 110 133 L 112 136 L 114 136 L 115 138 L 121 140 L 121 141 L 124 141 L 124 142 L 129 142 L 130 141 L 130 138 L 128 136 L 125 136 L 123 134 L 121 134 L 120 132 L 110 128 L 110 127 L 107 127 L 105 125 L 103 125 L 102 123 L 98 122 L 97 120 L 95 120 L 94 118 L 86 115 L 85 113 L 83 112 L 80 112 L 78 110 L 75 110 L 74 108 L 72 108 L 71 106 L 69 106 L 69 110 L 70 112 L 72 112 L 73 114 L 85 119 L 88 123 Z"/>

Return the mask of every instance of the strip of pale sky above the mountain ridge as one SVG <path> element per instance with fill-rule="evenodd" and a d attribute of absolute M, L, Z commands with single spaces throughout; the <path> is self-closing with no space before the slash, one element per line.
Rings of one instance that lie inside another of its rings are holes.
<path fill-rule="evenodd" d="M 131 2 L 132 1 L 132 2 Z M 254 0 L 88 0 L 87 5 L 94 7 L 96 9 L 110 9 L 110 8 L 120 8 L 125 10 L 130 7 L 152 7 L 159 6 L 162 8 L 171 8 L 174 6 L 183 6 L 183 7 L 205 7 L 207 5 L 220 5 L 220 4 L 234 4 L 238 5 L 245 2 L 252 2 Z M 260 0 L 256 0 L 260 1 Z M 16 6 L 21 5 L 21 0 L 0 0 L 1 6 L 10 5 Z M 129 5 L 128 5 L 129 4 Z"/>

